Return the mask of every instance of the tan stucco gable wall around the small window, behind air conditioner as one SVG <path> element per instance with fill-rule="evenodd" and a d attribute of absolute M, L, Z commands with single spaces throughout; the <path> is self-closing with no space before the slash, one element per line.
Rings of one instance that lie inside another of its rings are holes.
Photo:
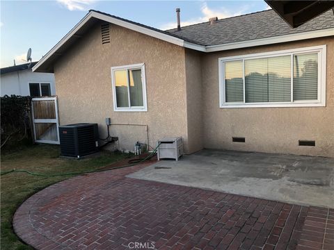
<path fill-rule="evenodd" d="M 150 145 L 159 138 L 182 136 L 189 152 L 186 120 L 184 48 L 110 26 L 111 42 L 102 44 L 96 25 L 56 62 L 56 92 L 61 124 L 97 122 L 106 135 L 105 117 L 113 123 L 147 124 Z M 145 63 L 147 112 L 113 111 L 111 67 Z M 146 142 L 145 126 L 112 125 L 120 149 L 134 149 Z"/>

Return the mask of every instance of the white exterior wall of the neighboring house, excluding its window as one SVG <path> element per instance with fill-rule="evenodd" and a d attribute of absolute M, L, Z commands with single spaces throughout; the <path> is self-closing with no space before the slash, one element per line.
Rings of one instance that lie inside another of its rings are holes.
<path fill-rule="evenodd" d="M 2 74 L 0 79 L 1 97 L 5 94 L 29 96 L 29 83 L 50 83 L 51 95 L 56 94 L 54 74 L 32 72 L 31 69 Z"/>

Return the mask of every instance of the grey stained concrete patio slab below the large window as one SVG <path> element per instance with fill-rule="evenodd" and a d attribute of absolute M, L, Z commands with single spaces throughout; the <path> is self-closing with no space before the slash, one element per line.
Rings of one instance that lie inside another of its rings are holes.
<path fill-rule="evenodd" d="M 334 158 L 202 150 L 128 177 L 334 208 Z"/>

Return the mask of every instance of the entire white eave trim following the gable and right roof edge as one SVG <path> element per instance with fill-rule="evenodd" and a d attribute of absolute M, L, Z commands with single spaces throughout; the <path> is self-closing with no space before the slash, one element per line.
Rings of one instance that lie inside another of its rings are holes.
<path fill-rule="evenodd" d="M 260 45 L 267 45 L 267 44 L 276 44 L 281 42 L 290 42 L 290 41 L 296 41 L 296 40 L 305 40 L 310 38 L 321 38 L 325 36 L 334 35 L 334 29 L 333 28 L 327 28 L 319 31 L 308 31 L 308 32 L 301 32 L 301 33 L 294 33 L 289 35 L 280 35 L 276 37 L 271 38 L 262 38 L 262 39 L 256 39 L 256 40 L 248 40 L 243 42 L 232 42 L 228 44 L 219 44 L 219 45 L 212 45 L 212 46 L 203 46 L 198 44 L 193 44 L 191 42 L 186 42 L 180 38 L 175 38 L 172 35 L 164 34 L 159 31 L 153 31 L 150 28 L 145 28 L 143 26 L 138 26 L 136 24 L 132 24 L 114 17 L 110 17 L 109 15 L 104 15 L 99 12 L 90 11 L 86 17 L 81 19 L 81 21 L 72 28 L 72 30 L 67 33 L 42 59 L 38 61 L 38 63 L 32 68 L 33 72 L 37 70 L 45 61 L 47 61 L 50 56 L 52 56 L 56 51 L 67 42 L 79 29 L 88 22 L 90 18 L 97 18 L 104 20 L 106 22 L 109 22 L 111 24 L 116 24 L 118 26 L 122 26 L 125 28 L 129 28 L 132 31 L 137 31 L 139 33 L 143 33 L 145 35 L 150 35 L 153 38 L 157 38 L 160 40 L 164 40 L 166 42 L 170 42 L 172 44 L 176 44 L 178 46 L 193 49 L 196 51 L 202 51 L 202 52 L 214 52 L 214 51 L 225 51 L 229 49 L 241 49 L 245 47 L 255 47 Z"/>

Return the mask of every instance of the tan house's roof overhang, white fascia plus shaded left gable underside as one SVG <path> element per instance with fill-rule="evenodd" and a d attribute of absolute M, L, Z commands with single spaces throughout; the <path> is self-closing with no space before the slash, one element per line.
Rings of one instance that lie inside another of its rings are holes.
<path fill-rule="evenodd" d="M 154 31 L 152 28 L 146 28 L 145 26 L 141 26 L 138 24 L 134 24 L 132 22 L 127 22 L 122 19 L 118 19 L 115 17 L 111 17 L 109 15 L 105 15 L 101 12 L 95 12 L 90 10 L 88 14 L 81 19 L 81 21 L 71 29 L 69 33 L 67 33 L 45 56 L 43 56 L 40 61 L 33 67 L 33 72 L 54 72 L 54 62 L 68 49 L 74 42 L 80 39 L 86 31 L 89 30 L 94 24 L 100 21 L 109 22 L 111 24 L 116 24 L 118 26 L 122 26 L 124 28 L 129 28 L 132 31 L 136 31 L 139 33 L 143 33 L 145 35 L 150 35 L 153 38 L 157 38 L 160 40 L 164 40 L 166 42 L 170 42 L 172 44 L 176 44 L 178 46 L 193 49 L 196 51 L 202 52 L 214 52 L 214 51 L 224 51 L 228 49 L 241 49 L 245 47 L 254 47 L 261 46 L 266 44 L 275 44 L 280 42 L 289 42 L 296 40 L 305 40 L 309 38 L 320 38 L 324 36 L 334 35 L 334 29 L 322 29 L 318 31 L 308 31 L 301 33 L 294 33 L 289 35 L 280 35 L 271 38 L 262 38 L 257 40 L 246 40 L 243 42 L 233 42 L 229 44 L 217 44 L 212 46 L 204 46 L 199 44 L 194 44 L 191 42 L 187 42 L 180 38 L 176 38 L 173 35 L 168 35 L 163 31 Z"/>

